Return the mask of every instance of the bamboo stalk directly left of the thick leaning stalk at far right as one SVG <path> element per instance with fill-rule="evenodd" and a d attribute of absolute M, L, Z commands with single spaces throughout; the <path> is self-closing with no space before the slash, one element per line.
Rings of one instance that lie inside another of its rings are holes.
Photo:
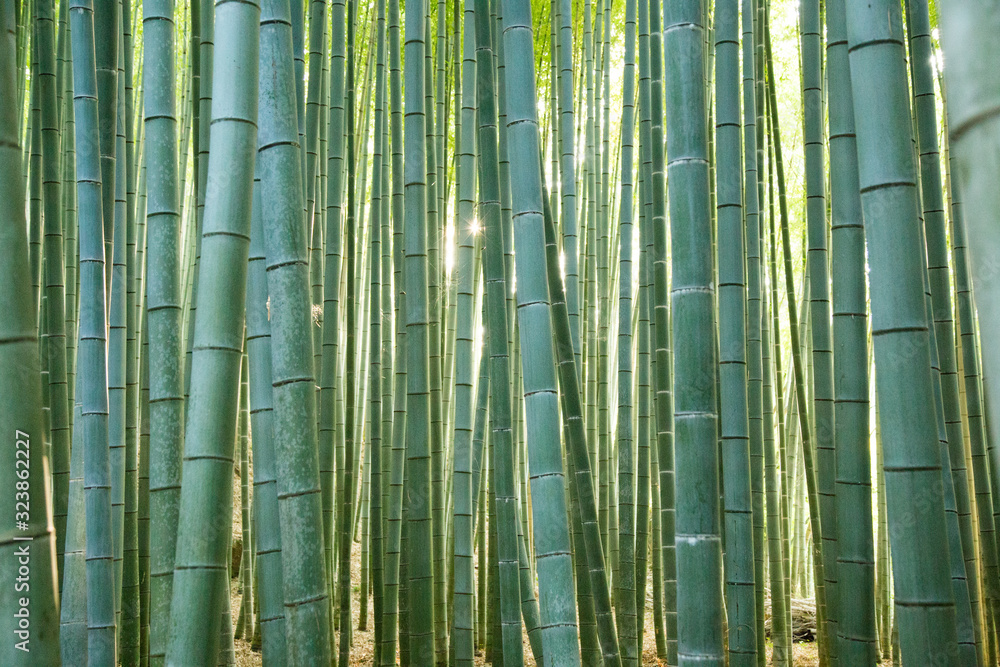
<path fill-rule="evenodd" d="M 844 664 L 876 661 L 875 549 L 868 416 L 868 318 L 864 220 L 843 0 L 827 5 L 830 86 L 830 200 L 837 450 L 837 654 Z"/>

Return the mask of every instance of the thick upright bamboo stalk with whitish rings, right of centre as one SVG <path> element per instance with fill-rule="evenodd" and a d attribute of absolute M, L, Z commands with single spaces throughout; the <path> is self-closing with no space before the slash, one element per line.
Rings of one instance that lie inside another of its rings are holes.
<path fill-rule="evenodd" d="M 699 664 L 721 665 L 722 553 L 715 440 L 716 362 L 711 333 L 714 290 L 708 243 L 711 214 L 707 114 L 703 87 L 684 84 L 693 77 L 702 77 L 704 26 L 696 2 L 664 9 L 663 48 L 665 62 L 671 67 L 665 77 L 665 90 L 671 193 L 674 424 L 679 445 L 675 452 L 677 653 L 679 664 L 697 659 Z M 657 259 L 661 257 L 657 252 Z M 656 323 L 658 337 L 662 337 L 660 319 Z M 661 463 L 664 458 L 660 457 Z"/>

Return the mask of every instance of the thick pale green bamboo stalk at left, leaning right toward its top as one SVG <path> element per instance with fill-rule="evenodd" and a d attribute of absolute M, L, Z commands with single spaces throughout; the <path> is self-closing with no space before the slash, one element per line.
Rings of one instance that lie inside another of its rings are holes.
<path fill-rule="evenodd" d="M 257 143 L 259 8 L 221 0 L 215 43 L 220 57 L 213 78 L 231 82 L 214 97 L 212 137 L 216 166 L 209 180 L 203 226 L 205 262 L 200 268 L 194 322 L 192 401 L 185 429 L 183 483 L 174 564 L 171 633 L 167 662 L 208 664 L 218 655 L 225 601 L 226 552 L 231 516 L 216 507 L 232 496 L 233 434 L 238 405 L 232 387 L 239 377 L 253 182 Z M 228 57 L 227 57 L 228 56 Z M 225 165 L 225 167 L 221 165 Z M 224 177 L 221 174 L 225 174 Z M 197 611 L 200 610 L 200 611 Z M 207 619 L 206 619 L 207 617 Z"/>

